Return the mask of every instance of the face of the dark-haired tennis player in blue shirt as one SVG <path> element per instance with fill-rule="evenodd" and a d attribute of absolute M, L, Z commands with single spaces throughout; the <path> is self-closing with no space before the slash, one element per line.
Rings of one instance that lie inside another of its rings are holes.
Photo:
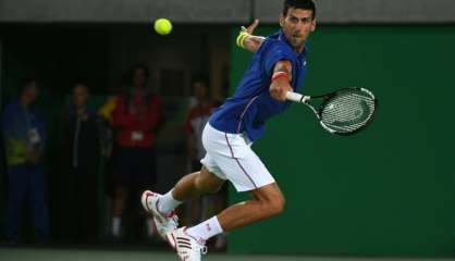
<path fill-rule="evenodd" d="M 290 8 L 286 16 L 280 16 L 280 25 L 287 41 L 302 51 L 309 34 L 316 29 L 316 18 L 311 10 Z"/>

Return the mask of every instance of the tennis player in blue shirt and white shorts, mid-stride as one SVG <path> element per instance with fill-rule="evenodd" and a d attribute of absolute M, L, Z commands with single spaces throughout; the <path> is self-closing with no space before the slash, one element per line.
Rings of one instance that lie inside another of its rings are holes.
<path fill-rule="evenodd" d="M 316 28 L 315 16 L 312 0 L 285 0 L 278 33 L 267 38 L 251 36 L 248 30 L 241 34 L 237 44 L 255 54 L 233 97 L 211 115 L 204 129 L 207 153 L 200 161 L 202 169 L 184 176 L 165 195 L 148 190 L 143 194 L 144 208 L 182 260 L 198 261 L 207 251 L 205 243 L 209 238 L 283 211 L 284 197 L 250 146 L 262 137 L 266 121 L 288 108 L 286 91 L 303 86 L 307 74 L 306 41 Z M 256 25 L 257 21 L 249 29 Z M 251 199 L 196 226 L 176 228 L 177 206 L 218 191 L 225 181 L 238 192 L 249 191 Z"/>

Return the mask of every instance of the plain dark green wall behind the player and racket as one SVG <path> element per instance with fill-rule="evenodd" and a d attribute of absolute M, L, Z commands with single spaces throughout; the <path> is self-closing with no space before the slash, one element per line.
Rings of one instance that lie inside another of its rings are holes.
<path fill-rule="evenodd" d="M 250 57 L 236 34 L 233 88 Z M 325 133 L 303 105 L 272 120 L 254 149 L 286 209 L 232 232 L 230 252 L 453 256 L 455 26 L 320 26 L 309 42 L 304 92 L 369 88 L 377 119 L 354 137 Z"/>

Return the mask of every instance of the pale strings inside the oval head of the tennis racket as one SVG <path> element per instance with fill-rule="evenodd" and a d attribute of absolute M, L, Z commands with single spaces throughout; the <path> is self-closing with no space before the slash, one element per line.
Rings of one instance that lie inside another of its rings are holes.
<path fill-rule="evenodd" d="M 374 99 L 362 92 L 340 95 L 322 109 L 321 121 L 337 132 L 353 132 L 370 120 L 374 105 Z"/>

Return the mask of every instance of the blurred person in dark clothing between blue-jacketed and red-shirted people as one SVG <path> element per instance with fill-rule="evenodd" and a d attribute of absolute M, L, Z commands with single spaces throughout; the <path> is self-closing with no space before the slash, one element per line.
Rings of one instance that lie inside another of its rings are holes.
<path fill-rule="evenodd" d="M 74 85 L 73 100 L 62 121 L 63 231 L 77 243 L 93 243 L 98 236 L 99 121 L 87 102 L 88 87 Z"/>

